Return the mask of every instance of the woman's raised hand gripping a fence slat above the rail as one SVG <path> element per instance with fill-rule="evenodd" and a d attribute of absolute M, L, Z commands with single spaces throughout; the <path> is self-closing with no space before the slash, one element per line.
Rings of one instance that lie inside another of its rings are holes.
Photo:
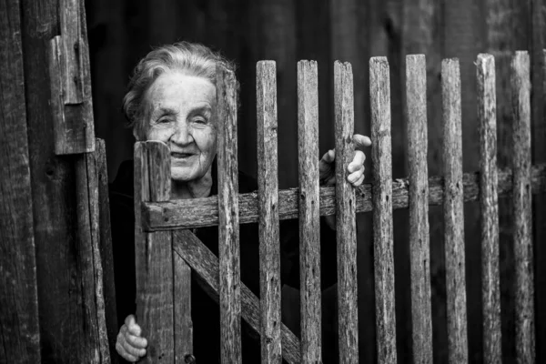
<path fill-rule="evenodd" d="M 368 136 L 362 136 L 360 134 L 355 134 L 353 136 L 353 143 L 355 145 L 355 156 L 353 157 L 352 162 L 349 163 L 347 167 L 347 181 L 353 187 L 359 187 L 364 181 L 364 161 L 366 160 L 366 155 L 362 150 L 359 150 L 364 147 L 371 146 L 371 140 Z M 334 160 L 336 159 L 336 150 L 330 149 L 327 153 L 322 156 L 319 163 L 319 176 L 320 176 L 320 186 L 333 186 L 336 184 L 336 167 L 334 165 Z M 332 229 L 336 229 L 336 216 L 330 215 L 326 217 L 326 222 L 328 226 Z"/>

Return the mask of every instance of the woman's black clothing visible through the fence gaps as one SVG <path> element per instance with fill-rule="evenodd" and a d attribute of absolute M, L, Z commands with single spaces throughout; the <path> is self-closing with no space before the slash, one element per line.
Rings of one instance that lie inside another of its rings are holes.
<path fill-rule="evenodd" d="M 216 162 L 213 164 L 213 185 L 211 195 L 217 195 Z M 256 181 L 239 173 L 239 193 L 256 191 Z M 117 317 L 119 326 L 127 315 L 136 312 L 135 278 L 135 238 L 133 201 L 133 163 L 126 161 L 118 169 L 114 182 L 110 185 L 110 217 L 116 274 Z M 258 224 L 242 224 L 240 236 L 241 280 L 259 297 L 259 241 Z M 199 238 L 216 256 L 218 255 L 217 227 L 196 229 Z M 321 286 L 323 289 L 335 284 L 336 234 L 326 224 L 321 224 Z M 298 220 L 280 223 L 281 285 L 299 287 L 299 234 Z M 220 334 L 219 308 L 208 297 L 196 281 L 192 272 L 192 320 L 194 329 L 194 355 L 197 363 L 219 361 Z M 258 363 L 260 359 L 259 341 L 250 339 L 243 320 L 242 354 L 244 363 Z M 247 328 L 248 329 L 248 328 Z M 295 332 L 299 336 L 298 332 Z"/>

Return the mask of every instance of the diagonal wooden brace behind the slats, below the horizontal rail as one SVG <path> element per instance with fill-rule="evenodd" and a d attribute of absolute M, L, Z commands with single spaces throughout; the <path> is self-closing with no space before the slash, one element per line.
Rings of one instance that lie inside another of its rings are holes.
<path fill-rule="evenodd" d="M 220 290 L 218 258 L 189 230 L 174 231 L 173 237 L 175 253 L 184 258 L 201 278 L 199 283 L 204 285 L 204 290 L 218 302 Z M 258 339 L 261 333 L 259 299 L 244 283 L 241 283 L 241 307 L 242 318 L 248 322 Z M 284 324 L 280 324 L 280 331 L 282 358 L 289 364 L 299 363 L 301 357 L 298 338 Z"/>

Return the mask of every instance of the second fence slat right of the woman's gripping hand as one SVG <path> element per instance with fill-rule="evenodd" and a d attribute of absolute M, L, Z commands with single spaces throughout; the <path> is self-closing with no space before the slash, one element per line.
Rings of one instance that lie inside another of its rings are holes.
<path fill-rule="evenodd" d="M 427 64 L 423 55 L 406 57 L 406 102 L 410 179 L 413 356 L 416 363 L 432 363 L 429 171 L 427 166 Z"/>

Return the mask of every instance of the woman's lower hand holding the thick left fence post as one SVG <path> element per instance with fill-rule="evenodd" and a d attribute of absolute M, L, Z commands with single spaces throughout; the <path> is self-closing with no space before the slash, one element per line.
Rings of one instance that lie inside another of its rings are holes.
<path fill-rule="evenodd" d="M 123 359 L 135 362 L 146 355 L 147 339 L 141 338 L 141 333 L 135 316 L 127 316 L 116 340 L 116 351 Z"/>

